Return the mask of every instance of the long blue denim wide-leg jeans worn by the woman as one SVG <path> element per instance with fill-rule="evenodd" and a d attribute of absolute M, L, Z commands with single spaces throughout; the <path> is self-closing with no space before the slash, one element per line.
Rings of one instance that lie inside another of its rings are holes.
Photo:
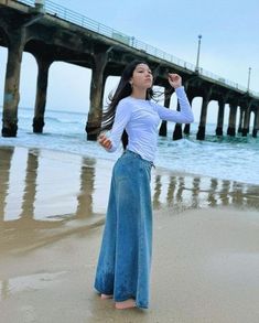
<path fill-rule="evenodd" d="M 116 162 L 95 279 L 98 292 L 114 294 L 116 302 L 134 299 L 144 309 L 152 254 L 151 168 L 128 150 Z"/>

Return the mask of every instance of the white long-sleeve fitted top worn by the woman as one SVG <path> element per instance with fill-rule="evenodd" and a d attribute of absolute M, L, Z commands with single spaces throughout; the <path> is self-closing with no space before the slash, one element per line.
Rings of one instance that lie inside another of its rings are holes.
<path fill-rule="evenodd" d="M 126 129 L 128 133 L 127 149 L 137 152 L 142 159 L 153 162 L 157 152 L 158 131 L 161 120 L 177 123 L 191 123 L 194 120 L 184 87 L 175 89 L 180 111 L 170 110 L 151 100 L 126 97 L 117 106 L 114 126 L 109 139 L 114 152 L 120 146 L 121 134 Z"/>

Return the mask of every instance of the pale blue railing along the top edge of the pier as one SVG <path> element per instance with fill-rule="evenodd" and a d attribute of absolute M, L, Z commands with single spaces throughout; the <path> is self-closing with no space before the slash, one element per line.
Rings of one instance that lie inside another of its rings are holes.
<path fill-rule="evenodd" d="M 28 4 L 30 7 L 35 6 L 34 0 L 19 0 L 18 2 Z M 176 56 L 173 56 L 173 55 L 165 53 L 154 46 L 151 46 L 142 41 L 139 41 L 133 36 L 129 36 L 127 34 L 123 34 L 112 28 L 109 28 L 105 24 L 101 24 L 90 18 L 87 18 L 87 17 L 85 17 L 80 13 L 77 13 L 71 9 L 67 9 L 63 6 L 56 4 L 50 0 L 45 0 L 44 10 L 46 13 L 53 14 L 60 19 L 66 20 L 66 21 L 72 22 L 76 25 L 79 25 L 82 28 L 86 28 L 88 30 L 97 32 L 101 35 L 105 35 L 107 37 L 110 37 L 112 40 L 121 42 L 130 47 L 136 49 L 136 50 L 143 51 L 147 54 L 153 55 L 158 58 L 162 58 L 166 62 L 173 63 L 175 65 L 179 65 L 179 66 L 184 67 L 184 68 L 192 71 L 192 72 L 196 71 L 194 64 L 192 64 L 192 63 L 187 63 Z M 226 79 L 222 76 L 218 76 L 212 72 L 208 72 L 202 67 L 198 68 L 198 74 L 204 77 L 211 78 L 212 80 L 216 80 L 219 84 L 227 85 L 227 86 L 233 87 L 235 89 L 247 93 L 247 87 L 241 86 L 233 80 L 228 80 L 228 79 Z M 249 94 L 251 94 L 256 97 L 259 97 L 259 93 L 249 90 Z"/>

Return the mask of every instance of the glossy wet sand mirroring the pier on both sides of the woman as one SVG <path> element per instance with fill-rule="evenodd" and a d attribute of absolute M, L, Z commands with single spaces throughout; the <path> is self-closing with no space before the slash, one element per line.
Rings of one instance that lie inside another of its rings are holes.
<path fill-rule="evenodd" d="M 0 254 L 25 252 L 104 224 L 112 162 L 37 149 L 0 149 Z M 19 186 L 19 187 L 18 187 Z M 173 174 L 151 177 L 154 209 L 259 208 L 259 186 Z"/>

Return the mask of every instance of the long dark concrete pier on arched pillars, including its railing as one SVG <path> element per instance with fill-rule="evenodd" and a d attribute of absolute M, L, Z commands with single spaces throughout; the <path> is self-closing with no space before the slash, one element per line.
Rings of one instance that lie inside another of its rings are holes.
<path fill-rule="evenodd" d="M 195 97 L 202 97 L 196 133 L 198 140 L 205 139 L 207 108 L 212 100 L 218 103 L 216 136 L 223 136 L 224 110 L 229 105 L 227 134 L 236 136 L 239 132 L 245 137 L 251 132 L 252 137 L 257 137 L 259 94 L 201 67 L 195 68 L 187 62 L 52 1 L 0 0 L 0 46 L 8 49 L 2 137 L 15 137 L 18 132 L 19 84 L 24 52 L 35 57 L 39 68 L 33 132 L 43 132 L 47 77 L 52 63 L 66 62 L 91 69 L 89 112 L 85 130 L 88 140 L 96 140 L 101 123 L 107 77 L 120 76 L 129 62 L 140 58 L 152 68 L 154 85 L 166 88 L 168 73 L 175 71 L 183 77 L 190 103 Z M 170 97 L 166 97 L 164 105 L 170 106 Z M 253 126 L 249 129 L 251 118 Z M 190 125 L 175 125 L 173 139 L 188 134 L 190 128 Z M 162 122 L 160 136 L 166 136 L 166 122 Z"/>

